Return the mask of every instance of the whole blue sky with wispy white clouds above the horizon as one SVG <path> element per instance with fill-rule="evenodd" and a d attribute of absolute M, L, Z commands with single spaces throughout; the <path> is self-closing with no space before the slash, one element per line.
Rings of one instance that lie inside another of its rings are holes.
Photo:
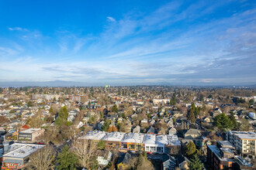
<path fill-rule="evenodd" d="M 256 84 L 255 1 L 0 0 L 0 83 Z"/>

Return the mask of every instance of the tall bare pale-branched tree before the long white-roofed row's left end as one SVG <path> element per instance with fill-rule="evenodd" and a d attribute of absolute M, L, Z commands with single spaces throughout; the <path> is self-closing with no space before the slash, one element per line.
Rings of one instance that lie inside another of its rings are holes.
<path fill-rule="evenodd" d="M 76 140 L 72 143 L 72 151 L 78 155 L 82 167 L 90 168 L 95 160 L 97 145 L 93 141 Z"/>

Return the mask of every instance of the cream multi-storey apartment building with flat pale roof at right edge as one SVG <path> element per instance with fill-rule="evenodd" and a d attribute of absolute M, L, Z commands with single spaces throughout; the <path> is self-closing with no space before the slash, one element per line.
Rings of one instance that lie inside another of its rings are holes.
<path fill-rule="evenodd" d="M 230 141 L 243 158 L 256 158 L 256 133 L 252 131 L 227 131 L 227 141 Z"/>

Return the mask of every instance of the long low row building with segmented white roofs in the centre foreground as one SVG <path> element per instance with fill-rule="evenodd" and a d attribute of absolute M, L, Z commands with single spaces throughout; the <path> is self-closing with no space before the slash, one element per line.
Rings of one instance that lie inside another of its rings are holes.
<path fill-rule="evenodd" d="M 123 132 L 88 131 L 80 140 L 105 142 L 107 149 L 118 148 L 119 151 L 149 151 L 177 155 L 181 144 L 175 134 L 140 134 Z"/>

